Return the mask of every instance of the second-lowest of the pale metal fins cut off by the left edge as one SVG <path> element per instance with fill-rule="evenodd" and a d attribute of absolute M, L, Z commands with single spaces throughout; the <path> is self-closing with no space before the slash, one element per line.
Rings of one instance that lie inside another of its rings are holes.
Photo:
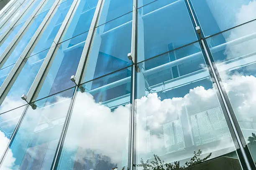
<path fill-rule="evenodd" d="M 15 35 L 13 40 L 10 42 L 7 48 L 5 48 L 3 54 L 0 56 L 0 67 L 4 65 L 6 60 L 8 60 L 10 54 L 15 50 L 15 47 L 18 45 L 18 42 L 20 39 L 26 34 L 26 31 L 29 29 L 31 24 L 33 23 L 33 18 L 36 16 L 38 11 L 41 9 L 41 7 L 44 7 L 46 4 L 47 0 L 42 0 L 39 5 L 36 7 L 36 9 L 33 11 L 31 16 L 28 18 L 26 23 L 24 23 L 23 27 L 20 28 L 19 32 Z"/>

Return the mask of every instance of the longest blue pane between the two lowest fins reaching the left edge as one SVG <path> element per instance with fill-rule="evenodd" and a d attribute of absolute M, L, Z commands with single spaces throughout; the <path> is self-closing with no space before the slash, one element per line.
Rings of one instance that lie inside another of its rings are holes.
<path fill-rule="evenodd" d="M 30 25 L 28 30 L 26 30 L 26 33 L 23 35 L 23 37 L 19 40 L 17 46 L 12 50 L 10 55 L 6 56 L 8 59 L 6 60 L 2 68 L 17 62 L 18 58 L 20 57 L 23 50 L 28 45 L 28 42 L 33 37 L 34 33 L 36 32 L 37 28 L 44 20 L 47 13 L 48 11 L 45 13 L 42 13 L 41 15 L 38 15 L 36 18 L 33 18 L 33 21 L 32 21 L 33 23 Z"/>

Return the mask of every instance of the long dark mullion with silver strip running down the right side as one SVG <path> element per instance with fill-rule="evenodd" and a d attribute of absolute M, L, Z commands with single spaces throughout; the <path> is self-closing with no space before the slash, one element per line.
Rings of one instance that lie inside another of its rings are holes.
<path fill-rule="evenodd" d="M 236 142 L 238 143 L 238 147 L 239 150 L 241 151 L 241 155 L 238 155 L 238 158 L 241 162 L 241 165 L 244 169 L 248 169 L 248 170 L 255 170 L 256 166 L 254 164 L 253 158 L 251 157 L 251 154 L 248 150 L 248 146 L 246 144 L 246 141 L 243 138 L 243 133 L 242 130 L 240 128 L 240 126 L 238 125 L 238 120 L 236 118 L 236 115 L 234 115 L 233 112 L 233 108 L 231 105 L 228 105 L 228 103 L 230 103 L 227 95 L 224 95 L 225 93 L 225 89 L 223 88 L 223 86 L 220 85 L 220 78 L 218 78 L 218 70 L 216 67 L 214 67 L 213 63 L 214 61 L 212 60 L 212 58 L 210 57 L 210 49 L 207 45 L 207 43 L 205 43 L 205 37 L 204 35 L 202 35 L 201 33 L 201 28 L 200 28 L 200 24 L 198 23 L 197 17 L 196 15 L 194 15 L 195 11 L 192 9 L 192 5 L 190 0 L 187 0 L 187 5 L 189 6 L 189 12 L 192 15 L 192 22 L 195 23 L 196 28 L 195 31 L 197 32 L 197 35 L 199 35 L 200 37 L 200 47 L 202 52 L 204 53 L 204 58 L 205 58 L 205 62 L 207 63 L 208 66 L 208 70 L 210 73 L 210 77 L 212 79 L 212 82 L 215 82 L 215 87 L 217 87 L 217 89 L 215 89 L 217 91 L 217 95 L 220 96 L 221 101 L 223 102 L 223 105 L 225 107 L 225 113 L 227 114 L 228 120 L 229 121 L 228 125 L 231 125 L 231 130 L 233 132 L 230 132 L 233 138 L 235 138 L 236 141 L 234 141 L 234 143 L 236 144 Z M 206 55 L 206 56 L 205 56 Z"/>

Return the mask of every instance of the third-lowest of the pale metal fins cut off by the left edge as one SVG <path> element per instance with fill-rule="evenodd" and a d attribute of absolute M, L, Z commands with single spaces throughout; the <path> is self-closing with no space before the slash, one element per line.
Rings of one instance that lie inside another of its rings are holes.
<path fill-rule="evenodd" d="M 12 31 L 14 25 L 18 22 L 18 20 L 20 18 L 22 18 L 22 16 L 26 13 L 26 11 L 28 10 L 29 7 L 31 7 L 31 5 L 33 4 L 34 0 L 31 0 L 28 5 L 26 5 L 26 7 L 23 9 L 23 11 L 18 15 L 18 17 L 15 18 L 15 20 L 9 25 L 9 29 L 7 29 L 5 32 L 3 32 L 3 34 L 0 37 L 0 45 L 3 44 L 3 42 L 8 38 L 8 35 L 10 34 L 10 32 Z"/>

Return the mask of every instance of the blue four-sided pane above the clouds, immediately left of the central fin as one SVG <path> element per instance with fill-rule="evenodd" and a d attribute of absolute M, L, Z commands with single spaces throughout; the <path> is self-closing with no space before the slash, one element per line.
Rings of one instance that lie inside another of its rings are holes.
<path fill-rule="evenodd" d="M 131 65 L 132 13 L 95 29 L 84 82 Z"/>

